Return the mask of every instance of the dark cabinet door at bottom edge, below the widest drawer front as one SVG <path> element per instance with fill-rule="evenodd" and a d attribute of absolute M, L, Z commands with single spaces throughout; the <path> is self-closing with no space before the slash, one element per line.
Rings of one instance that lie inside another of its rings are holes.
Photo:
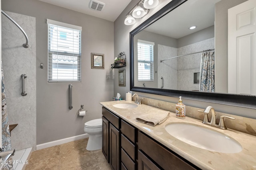
<path fill-rule="evenodd" d="M 138 150 L 138 170 L 160 170 L 140 150 Z"/>

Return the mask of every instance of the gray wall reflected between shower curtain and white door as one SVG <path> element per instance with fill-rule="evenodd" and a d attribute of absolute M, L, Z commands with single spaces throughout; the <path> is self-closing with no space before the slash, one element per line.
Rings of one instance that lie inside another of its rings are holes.
<path fill-rule="evenodd" d="M 228 93 L 228 9 L 245 1 L 247 0 L 221 0 L 215 5 L 216 92 Z"/>

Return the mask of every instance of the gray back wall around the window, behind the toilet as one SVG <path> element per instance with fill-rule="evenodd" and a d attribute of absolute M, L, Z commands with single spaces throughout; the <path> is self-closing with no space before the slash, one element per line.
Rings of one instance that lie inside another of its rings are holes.
<path fill-rule="evenodd" d="M 86 121 L 101 117 L 99 103 L 110 101 L 114 94 L 114 72 L 110 68 L 114 59 L 114 23 L 38 0 L 4 0 L 2 10 L 36 18 L 37 145 L 83 134 Z M 70 83 L 47 80 L 47 18 L 82 26 L 82 77 L 81 82 L 72 83 L 72 110 L 68 109 Z M 105 55 L 105 69 L 91 69 L 91 53 Z M 40 63 L 44 64 L 43 69 Z M 85 117 L 76 115 L 81 104 L 88 111 Z"/>

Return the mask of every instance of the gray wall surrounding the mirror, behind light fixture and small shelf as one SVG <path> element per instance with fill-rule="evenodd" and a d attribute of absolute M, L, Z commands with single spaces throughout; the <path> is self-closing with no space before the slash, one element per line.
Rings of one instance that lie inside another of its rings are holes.
<path fill-rule="evenodd" d="M 127 56 L 130 55 L 129 52 L 129 33 L 138 25 L 140 25 L 143 21 L 148 19 L 152 14 L 154 14 L 156 11 L 161 9 L 164 5 L 168 4 L 171 0 L 166 0 L 166 1 L 160 1 L 160 4 L 150 10 L 148 15 L 144 16 L 142 19 L 136 19 L 136 23 L 134 25 L 124 25 L 124 19 L 126 14 L 139 2 L 139 0 L 132 0 L 130 4 L 127 6 L 127 8 L 120 14 L 120 16 L 116 19 L 114 22 L 114 53 L 115 56 L 117 56 L 120 51 L 125 51 Z M 233 0 L 228 0 L 232 2 Z M 176 8 L 175 10 L 178 10 Z M 224 22 L 226 23 L 226 22 Z M 222 24 L 224 24 L 222 23 Z M 227 47 L 226 47 L 227 48 Z M 223 49 L 223 48 L 222 48 Z M 227 50 L 227 49 L 226 49 Z M 225 55 L 227 57 L 227 55 Z M 114 57 L 113 57 L 114 59 Z M 114 81 L 114 94 L 119 92 L 122 97 L 124 98 L 125 93 L 130 90 L 130 63 L 129 63 L 129 58 L 127 60 L 127 66 L 126 66 L 126 87 L 119 87 L 118 86 L 118 76 L 115 74 L 115 81 Z M 118 70 L 115 70 L 115 72 L 118 72 Z M 128 74 L 127 74 L 128 73 Z M 173 97 L 167 97 L 167 96 L 160 96 L 160 95 L 155 95 L 155 94 L 147 94 L 147 93 L 137 93 L 140 96 L 144 96 L 147 98 L 153 98 L 156 100 L 163 100 L 166 102 L 173 102 L 177 103 L 178 98 L 173 98 Z M 235 106 L 226 106 L 226 105 L 221 105 L 221 104 L 214 104 L 214 103 L 208 103 L 208 102 L 199 102 L 199 101 L 194 101 L 194 100 L 182 100 L 183 103 L 187 106 L 192 106 L 192 107 L 199 107 L 199 108 L 206 108 L 207 106 L 212 106 L 216 109 L 216 111 L 224 112 L 224 113 L 230 113 L 234 115 L 241 115 L 245 117 L 251 117 L 251 118 L 256 118 L 255 114 L 255 109 L 247 109 L 243 107 L 235 107 Z"/>

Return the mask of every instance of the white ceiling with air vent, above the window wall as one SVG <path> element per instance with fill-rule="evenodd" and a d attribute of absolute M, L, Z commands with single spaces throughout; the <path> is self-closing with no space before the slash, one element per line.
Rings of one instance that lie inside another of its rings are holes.
<path fill-rule="evenodd" d="M 106 4 L 102 11 L 89 8 L 90 0 L 40 0 L 49 4 L 82 12 L 108 21 L 115 21 L 132 0 L 98 0 Z"/>

